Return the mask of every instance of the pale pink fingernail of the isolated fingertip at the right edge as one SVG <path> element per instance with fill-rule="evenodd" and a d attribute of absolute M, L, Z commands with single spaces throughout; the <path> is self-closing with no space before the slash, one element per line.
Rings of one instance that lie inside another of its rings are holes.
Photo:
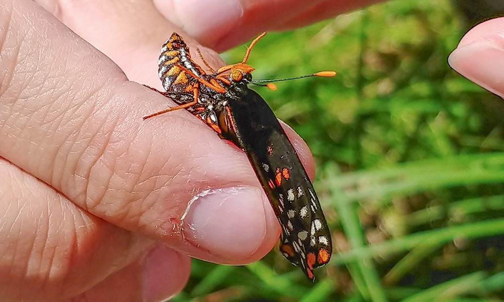
<path fill-rule="evenodd" d="M 459 45 L 448 57 L 448 63 L 465 78 L 502 97 L 504 48 L 498 41 L 490 37 Z"/>

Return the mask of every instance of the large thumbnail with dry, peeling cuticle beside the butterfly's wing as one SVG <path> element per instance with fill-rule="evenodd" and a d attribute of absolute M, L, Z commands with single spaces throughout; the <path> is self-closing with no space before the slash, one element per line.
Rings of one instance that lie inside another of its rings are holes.
<path fill-rule="evenodd" d="M 224 259 L 244 259 L 263 243 L 270 206 L 259 188 L 209 190 L 193 198 L 182 221 L 186 240 Z"/>

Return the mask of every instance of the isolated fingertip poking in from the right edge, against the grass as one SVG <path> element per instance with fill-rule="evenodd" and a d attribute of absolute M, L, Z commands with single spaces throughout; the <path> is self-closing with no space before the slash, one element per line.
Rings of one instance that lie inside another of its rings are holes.
<path fill-rule="evenodd" d="M 504 18 L 472 28 L 448 57 L 450 66 L 484 89 L 504 97 Z"/>

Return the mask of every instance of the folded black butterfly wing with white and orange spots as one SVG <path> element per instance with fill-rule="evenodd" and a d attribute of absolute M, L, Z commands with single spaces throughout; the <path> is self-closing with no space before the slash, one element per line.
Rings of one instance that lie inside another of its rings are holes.
<path fill-rule="evenodd" d="M 332 245 L 319 199 L 275 114 L 255 91 L 244 88 L 219 116 L 221 136 L 244 150 L 282 226 L 280 251 L 313 280 Z"/>

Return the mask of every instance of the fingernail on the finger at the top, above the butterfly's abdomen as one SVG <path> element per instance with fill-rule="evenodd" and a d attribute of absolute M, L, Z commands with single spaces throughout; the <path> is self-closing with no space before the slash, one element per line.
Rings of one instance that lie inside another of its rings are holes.
<path fill-rule="evenodd" d="M 174 0 L 173 9 L 183 20 L 183 30 L 193 37 L 227 34 L 243 15 L 237 0 Z M 216 40 L 213 37 L 212 40 Z"/>

